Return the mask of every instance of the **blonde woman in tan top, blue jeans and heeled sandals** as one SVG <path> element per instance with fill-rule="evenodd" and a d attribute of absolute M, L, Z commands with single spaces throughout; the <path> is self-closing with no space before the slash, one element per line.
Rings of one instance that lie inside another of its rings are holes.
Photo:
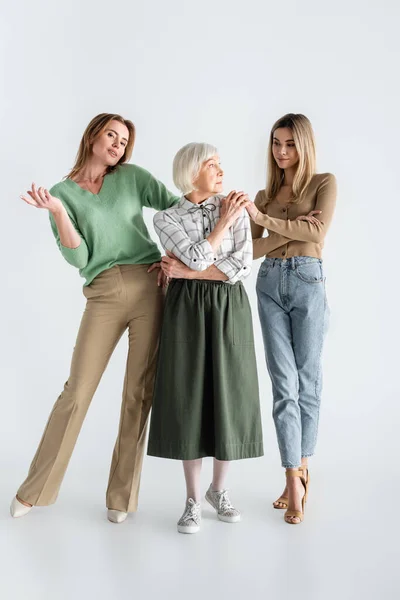
<path fill-rule="evenodd" d="M 330 173 L 316 174 L 315 163 L 310 121 L 285 115 L 270 134 L 266 189 L 247 208 L 254 258 L 265 256 L 257 278 L 258 310 L 286 469 L 286 487 L 274 507 L 287 509 L 290 524 L 304 516 L 328 320 L 322 248 L 335 209 L 336 180 Z"/>

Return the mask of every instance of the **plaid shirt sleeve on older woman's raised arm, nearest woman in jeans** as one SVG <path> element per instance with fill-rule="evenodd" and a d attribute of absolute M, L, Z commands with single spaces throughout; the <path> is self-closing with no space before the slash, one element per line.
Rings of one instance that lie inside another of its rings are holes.
<path fill-rule="evenodd" d="M 246 210 L 243 210 L 242 215 L 236 219 L 231 229 L 234 250 L 228 256 L 215 261 L 214 264 L 225 273 L 228 282 L 233 284 L 250 275 L 253 261 L 250 219 Z"/>

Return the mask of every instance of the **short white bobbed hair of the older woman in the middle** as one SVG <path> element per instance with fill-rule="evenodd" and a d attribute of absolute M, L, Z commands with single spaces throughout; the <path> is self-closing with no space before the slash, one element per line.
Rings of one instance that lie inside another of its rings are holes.
<path fill-rule="evenodd" d="M 173 180 L 182 194 L 190 194 L 195 189 L 196 180 L 202 164 L 218 154 L 215 146 L 192 142 L 183 146 L 175 155 L 172 167 Z"/>

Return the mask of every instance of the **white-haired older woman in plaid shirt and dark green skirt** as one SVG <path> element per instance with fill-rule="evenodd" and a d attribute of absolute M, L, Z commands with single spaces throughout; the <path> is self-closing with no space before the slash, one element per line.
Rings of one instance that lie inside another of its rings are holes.
<path fill-rule="evenodd" d="M 248 197 L 223 199 L 218 151 L 188 144 L 174 160 L 183 192 L 154 226 L 173 280 L 166 297 L 148 453 L 183 460 L 187 499 L 180 533 L 200 528 L 202 458 L 214 458 L 207 501 L 226 522 L 240 520 L 225 478 L 229 462 L 262 456 L 250 305 L 241 280 L 253 258 Z"/>

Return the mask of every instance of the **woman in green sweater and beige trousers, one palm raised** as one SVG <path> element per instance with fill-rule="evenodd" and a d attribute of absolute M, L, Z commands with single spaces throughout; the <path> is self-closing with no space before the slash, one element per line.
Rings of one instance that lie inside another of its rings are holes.
<path fill-rule="evenodd" d="M 150 173 L 128 165 L 135 127 L 101 114 L 86 128 L 76 164 L 50 191 L 33 184 L 22 199 L 49 211 L 64 258 L 85 278 L 87 299 L 70 376 L 55 403 L 28 476 L 11 504 L 13 517 L 55 502 L 91 399 L 123 333 L 129 352 L 121 419 L 107 488 L 115 523 L 137 508 L 163 308 L 161 256 L 143 206 L 178 200 Z"/>

